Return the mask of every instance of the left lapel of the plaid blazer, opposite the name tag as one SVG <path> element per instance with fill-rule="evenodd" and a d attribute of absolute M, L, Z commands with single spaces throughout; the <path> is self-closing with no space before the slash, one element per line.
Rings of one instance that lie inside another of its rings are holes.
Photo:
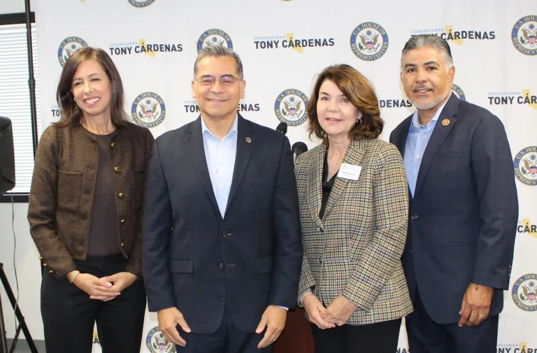
<path fill-rule="evenodd" d="M 317 150 L 317 154 L 310 159 L 308 173 L 308 205 L 310 206 L 310 215 L 315 219 L 317 226 L 322 226 L 319 212 L 321 212 L 322 170 L 324 166 L 324 154 L 326 152 L 327 145 L 323 143 L 321 148 Z"/>

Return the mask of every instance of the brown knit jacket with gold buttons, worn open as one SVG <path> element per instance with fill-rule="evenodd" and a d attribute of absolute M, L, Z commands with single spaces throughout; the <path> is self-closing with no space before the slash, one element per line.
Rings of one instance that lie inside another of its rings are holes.
<path fill-rule="evenodd" d="M 154 138 L 128 124 L 110 141 L 117 234 L 127 271 L 141 277 L 145 182 Z M 48 127 L 38 145 L 28 206 L 30 233 L 50 273 L 64 277 L 87 255 L 99 143 L 80 124 Z"/>

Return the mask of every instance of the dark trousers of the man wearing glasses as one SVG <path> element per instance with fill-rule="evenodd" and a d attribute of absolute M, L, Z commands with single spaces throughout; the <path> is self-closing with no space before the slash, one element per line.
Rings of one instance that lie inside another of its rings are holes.
<path fill-rule="evenodd" d="M 266 331 L 258 334 L 243 332 L 237 328 L 227 303 L 222 323 L 214 333 L 186 333 L 180 329 L 180 326 L 177 326 L 177 329 L 181 337 L 187 341 L 185 347 L 176 346 L 178 353 L 271 353 L 273 351 L 273 345 L 261 350 L 257 348 Z"/>

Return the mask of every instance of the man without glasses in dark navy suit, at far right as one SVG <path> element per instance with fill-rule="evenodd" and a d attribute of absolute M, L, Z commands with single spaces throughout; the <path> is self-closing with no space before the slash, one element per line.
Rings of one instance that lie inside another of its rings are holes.
<path fill-rule="evenodd" d="M 506 131 L 452 94 L 454 73 L 442 38 L 406 43 L 401 81 L 417 110 L 390 142 L 403 155 L 412 196 L 402 257 L 412 353 L 496 352 L 513 262 L 518 203 Z"/>

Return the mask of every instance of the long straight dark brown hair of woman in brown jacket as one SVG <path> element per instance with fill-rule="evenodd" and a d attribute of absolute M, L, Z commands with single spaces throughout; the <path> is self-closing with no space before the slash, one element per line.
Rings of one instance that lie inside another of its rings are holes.
<path fill-rule="evenodd" d="M 87 60 L 95 60 L 103 68 L 112 84 L 112 99 L 110 100 L 110 115 L 112 124 L 115 127 L 122 127 L 129 124 L 129 118 L 124 111 L 124 92 L 123 83 L 120 78 L 120 73 L 114 65 L 114 62 L 108 54 L 102 49 L 83 47 L 77 50 L 69 59 L 67 59 L 62 75 L 59 78 L 58 89 L 56 91 L 56 99 L 60 110 L 59 122 L 55 122 L 57 127 L 66 127 L 72 123 L 80 123 L 82 119 L 82 111 L 74 101 L 73 92 L 73 76 L 75 75 L 78 66 Z M 115 92 L 114 92 L 115 91 Z"/>

